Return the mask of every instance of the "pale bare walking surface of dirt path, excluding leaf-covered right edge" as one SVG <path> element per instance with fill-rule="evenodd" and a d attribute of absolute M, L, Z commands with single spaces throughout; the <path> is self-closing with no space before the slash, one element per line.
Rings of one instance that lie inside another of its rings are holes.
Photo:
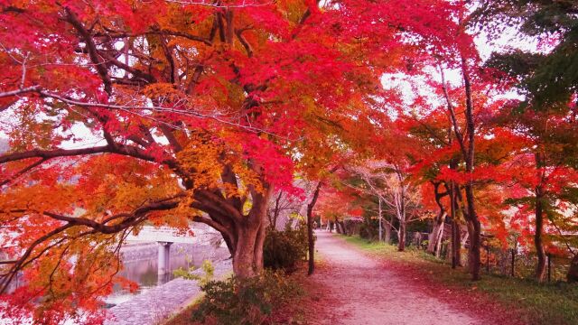
<path fill-rule="evenodd" d="M 426 294 L 338 237 L 317 232 L 325 264 L 315 275 L 325 287 L 330 315 L 323 324 L 481 324 Z"/>

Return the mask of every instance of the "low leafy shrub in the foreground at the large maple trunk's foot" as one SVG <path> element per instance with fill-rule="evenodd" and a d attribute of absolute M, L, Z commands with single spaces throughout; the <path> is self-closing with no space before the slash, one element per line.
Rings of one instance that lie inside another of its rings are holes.
<path fill-rule="evenodd" d="M 192 320 L 230 325 L 263 324 L 284 302 L 303 294 L 301 287 L 280 271 L 249 279 L 210 281 L 201 289 L 205 297 Z"/>

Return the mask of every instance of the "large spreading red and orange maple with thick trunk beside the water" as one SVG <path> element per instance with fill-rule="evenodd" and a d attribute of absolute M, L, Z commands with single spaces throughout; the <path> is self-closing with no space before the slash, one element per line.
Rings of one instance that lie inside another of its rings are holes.
<path fill-rule="evenodd" d="M 0 218 L 14 256 L 2 308 L 48 322 L 98 311 L 120 281 L 118 247 L 145 222 L 206 223 L 238 276 L 259 272 L 271 193 L 299 194 L 294 161 L 361 145 L 375 128 L 380 62 L 396 54 L 346 24 L 361 9 L 2 2 Z M 379 31 L 401 44 L 396 28 Z M 26 283 L 8 294 L 19 272 Z"/>

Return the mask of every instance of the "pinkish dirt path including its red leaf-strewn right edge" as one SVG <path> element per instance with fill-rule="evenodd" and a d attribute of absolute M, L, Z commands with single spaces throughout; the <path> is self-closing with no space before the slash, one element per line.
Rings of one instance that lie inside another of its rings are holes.
<path fill-rule="evenodd" d="M 322 296 L 312 324 L 519 324 L 489 297 L 425 282 L 424 274 L 361 252 L 317 232 L 322 265 L 313 295 Z M 483 306 L 483 308 L 480 308 Z"/>

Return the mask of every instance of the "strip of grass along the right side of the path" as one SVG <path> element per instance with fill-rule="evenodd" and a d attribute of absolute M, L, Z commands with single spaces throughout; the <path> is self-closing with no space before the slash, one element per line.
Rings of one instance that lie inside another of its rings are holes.
<path fill-rule="evenodd" d="M 498 301 L 506 308 L 519 311 L 522 321 L 529 324 L 578 324 L 578 284 L 536 283 L 496 274 L 482 274 L 482 280 L 472 282 L 463 268 L 452 270 L 450 265 L 421 250 L 368 242 L 360 237 L 344 237 L 354 246 L 384 260 L 415 267 L 427 281 L 443 283 L 450 288 L 478 291 Z"/>

